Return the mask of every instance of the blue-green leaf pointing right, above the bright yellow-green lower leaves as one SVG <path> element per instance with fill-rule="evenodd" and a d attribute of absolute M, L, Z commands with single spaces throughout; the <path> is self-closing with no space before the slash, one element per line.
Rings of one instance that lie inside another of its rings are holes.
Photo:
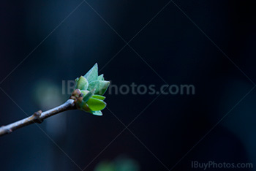
<path fill-rule="evenodd" d="M 88 90 L 90 91 L 95 88 L 95 94 L 103 95 L 107 91 L 109 85 L 109 81 L 97 80 L 89 83 Z"/>

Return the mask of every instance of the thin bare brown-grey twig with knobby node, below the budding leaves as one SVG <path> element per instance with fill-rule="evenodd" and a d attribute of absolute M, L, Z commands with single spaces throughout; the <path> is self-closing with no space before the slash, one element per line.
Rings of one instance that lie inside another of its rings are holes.
<path fill-rule="evenodd" d="M 62 113 L 67 110 L 75 109 L 75 100 L 68 99 L 64 104 L 59 105 L 58 107 L 54 107 L 51 110 L 47 110 L 42 113 L 42 110 L 37 111 L 33 115 L 28 118 L 23 118 L 20 121 L 16 121 L 14 123 L 10 123 L 7 126 L 0 127 L 0 136 L 4 134 L 10 134 L 16 129 L 22 128 L 23 126 L 30 125 L 31 123 L 42 123 L 45 118 L 48 118 L 52 115 L 56 115 L 57 113 Z"/>

